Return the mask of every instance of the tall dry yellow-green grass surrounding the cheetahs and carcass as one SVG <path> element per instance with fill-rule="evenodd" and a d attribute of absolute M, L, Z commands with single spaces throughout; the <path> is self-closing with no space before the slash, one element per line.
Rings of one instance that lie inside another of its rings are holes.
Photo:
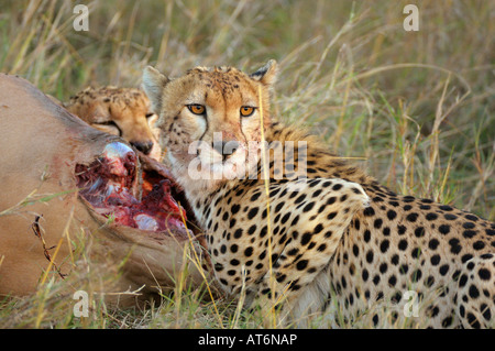
<path fill-rule="evenodd" d="M 420 31 L 405 32 L 408 2 L 91 1 L 89 32 L 75 32 L 69 1 L 3 1 L 0 67 L 66 100 L 88 85 L 139 86 L 147 64 L 178 76 L 275 58 L 280 119 L 314 128 L 399 193 L 495 220 L 495 3 L 420 1 Z M 94 318 L 79 320 L 63 285 L 53 277 L 6 301 L 0 327 L 260 326 L 186 286 L 145 311 L 97 298 Z"/>

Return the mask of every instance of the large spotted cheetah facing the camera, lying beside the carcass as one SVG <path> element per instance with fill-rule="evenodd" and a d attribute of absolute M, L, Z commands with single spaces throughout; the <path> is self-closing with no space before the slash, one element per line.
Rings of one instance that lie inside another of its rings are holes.
<path fill-rule="evenodd" d="M 495 223 L 395 194 L 272 118 L 276 76 L 275 61 L 143 72 L 221 288 L 283 326 L 493 327 Z"/>

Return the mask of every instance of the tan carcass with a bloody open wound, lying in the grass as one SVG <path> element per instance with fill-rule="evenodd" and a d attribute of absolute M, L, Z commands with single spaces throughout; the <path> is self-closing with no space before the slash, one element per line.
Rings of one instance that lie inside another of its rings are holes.
<path fill-rule="evenodd" d="M 48 268 L 70 274 L 70 240 L 80 234 L 91 262 L 123 263 L 116 292 L 170 288 L 187 263 L 184 250 L 201 255 L 163 165 L 4 74 L 0 151 L 0 296 L 35 292 Z M 202 282 L 194 264 L 188 276 Z"/>

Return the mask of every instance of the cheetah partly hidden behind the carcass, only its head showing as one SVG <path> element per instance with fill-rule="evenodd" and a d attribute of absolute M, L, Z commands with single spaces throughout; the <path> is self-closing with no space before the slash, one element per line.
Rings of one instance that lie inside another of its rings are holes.
<path fill-rule="evenodd" d="M 152 158 L 162 158 L 154 128 L 157 116 L 150 111 L 150 100 L 142 90 L 88 87 L 63 106 L 92 128 L 122 136 Z"/>

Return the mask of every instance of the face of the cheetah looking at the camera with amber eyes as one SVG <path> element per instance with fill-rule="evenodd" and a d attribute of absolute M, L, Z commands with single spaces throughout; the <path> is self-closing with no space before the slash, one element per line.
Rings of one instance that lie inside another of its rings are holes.
<path fill-rule="evenodd" d="M 144 90 L 160 114 L 161 144 L 186 189 L 212 189 L 254 172 L 261 117 L 266 127 L 275 75 L 274 61 L 252 75 L 231 67 L 197 67 L 170 80 L 152 67 L 144 70 Z"/>

